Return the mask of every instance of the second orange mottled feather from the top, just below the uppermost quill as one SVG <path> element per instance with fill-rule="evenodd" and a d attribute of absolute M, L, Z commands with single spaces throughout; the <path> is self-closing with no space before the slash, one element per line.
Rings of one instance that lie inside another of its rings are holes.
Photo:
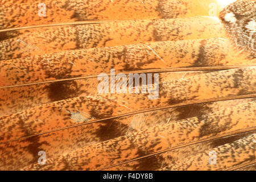
<path fill-rule="evenodd" d="M 219 20 L 207 16 L 57 26 L 2 40 L 0 60 L 68 49 L 214 37 L 224 37 L 224 30 Z"/>

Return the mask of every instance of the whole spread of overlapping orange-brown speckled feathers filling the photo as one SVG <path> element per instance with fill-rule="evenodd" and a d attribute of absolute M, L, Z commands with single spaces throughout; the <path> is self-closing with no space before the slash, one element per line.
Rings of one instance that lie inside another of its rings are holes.
<path fill-rule="evenodd" d="M 0 2 L 0 170 L 255 170 L 254 0 L 39 2 Z M 158 97 L 99 93 L 112 68 Z"/>

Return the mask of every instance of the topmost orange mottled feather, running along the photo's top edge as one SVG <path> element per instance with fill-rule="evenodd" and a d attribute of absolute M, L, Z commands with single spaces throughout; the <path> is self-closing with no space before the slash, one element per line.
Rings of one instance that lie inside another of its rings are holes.
<path fill-rule="evenodd" d="M 37 2 L 20 0 L 14 4 L 5 3 L 5 6 L 0 6 L 0 19 L 2 19 L 0 29 L 86 20 L 134 20 L 185 18 L 196 15 L 208 16 L 208 5 L 214 2 L 216 3 L 216 0 L 207 0 L 204 3 L 195 0 L 44 0 Z M 3 3 L 0 2 L 0 5 Z M 39 3 L 46 5 L 46 16 L 44 17 L 38 15 L 40 10 Z"/>

